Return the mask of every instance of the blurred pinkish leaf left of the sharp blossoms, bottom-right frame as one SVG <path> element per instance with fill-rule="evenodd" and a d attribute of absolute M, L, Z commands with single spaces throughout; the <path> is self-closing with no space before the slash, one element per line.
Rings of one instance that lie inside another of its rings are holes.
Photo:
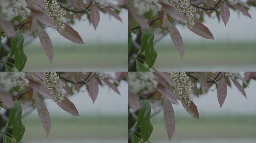
<path fill-rule="evenodd" d="M 162 94 L 162 97 L 164 99 L 167 99 L 169 102 L 171 102 L 173 104 L 178 104 L 176 96 L 170 89 L 165 88 L 162 85 L 158 85 L 156 88 L 157 88 L 158 92 L 160 92 Z"/>

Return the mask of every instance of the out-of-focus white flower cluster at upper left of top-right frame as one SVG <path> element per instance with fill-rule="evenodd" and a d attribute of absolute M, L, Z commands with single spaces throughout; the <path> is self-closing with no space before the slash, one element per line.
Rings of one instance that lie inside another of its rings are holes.
<path fill-rule="evenodd" d="M 162 8 L 162 5 L 158 3 L 158 0 L 134 0 L 133 6 L 137 10 L 138 15 L 141 16 L 150 10 L 153 12 L 153 15 L 156 15 Z"/>

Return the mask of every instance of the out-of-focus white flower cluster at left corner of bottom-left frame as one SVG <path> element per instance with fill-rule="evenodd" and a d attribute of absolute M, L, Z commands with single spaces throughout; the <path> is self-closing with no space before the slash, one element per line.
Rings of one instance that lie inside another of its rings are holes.
<path fill-rule="evenodd" d="M 0 72 L 0 90 L 9 92 L 15 86 L 25 89 L 29 80 L 24 72 Z"/>

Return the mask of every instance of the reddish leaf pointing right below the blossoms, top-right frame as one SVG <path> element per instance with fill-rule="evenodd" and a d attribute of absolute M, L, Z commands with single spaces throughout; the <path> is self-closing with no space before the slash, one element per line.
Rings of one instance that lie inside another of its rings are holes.
<path fill-rule="evenodd" d="M 204 26 L 199 20 L 195 19 L 195 25 L 191 28 L 191 31 L 203 38 L 214 39 L 213 34 L 211 34 L 210 30 L 206 26 Z"/>

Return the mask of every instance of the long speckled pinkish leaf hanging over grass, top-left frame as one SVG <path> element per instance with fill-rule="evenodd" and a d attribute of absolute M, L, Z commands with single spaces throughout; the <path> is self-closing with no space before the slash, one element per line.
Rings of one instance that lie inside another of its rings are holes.
<path fill-rule="evenodd" d="M 52 63 L 52 59 L 54 58 L 54 50 L 52 48 L 52 41 L 49 35 L 41 26 L 38 26 L 37 34 L 39 36 L 39 39 L 43 47 L 43 50 L 45 51 L 45 54 L 50 60 L 50 63 Z"/>

